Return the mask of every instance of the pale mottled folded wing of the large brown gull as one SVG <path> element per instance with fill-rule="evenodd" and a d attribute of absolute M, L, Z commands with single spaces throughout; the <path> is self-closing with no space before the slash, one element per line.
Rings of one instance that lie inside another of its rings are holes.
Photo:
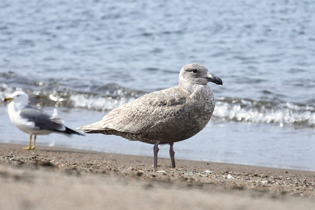
<path fill-rule="evenodd" d="M 79 127 L 84 130 L 117 130 L 141 133 L 159 121 L 173 120 L 186 111 L 186 97 L 178 87 L 143 95 L 120 106 L 98 122 Z"/>

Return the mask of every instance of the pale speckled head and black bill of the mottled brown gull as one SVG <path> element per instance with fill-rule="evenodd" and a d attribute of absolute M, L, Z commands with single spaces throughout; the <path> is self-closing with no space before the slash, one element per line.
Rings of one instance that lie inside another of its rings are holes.
<path fill-rule="evenodd" d="M 190 63 L 181 69 L 179 76 L 180 86 L 186 86 L 186 84 L 207 85 L 209 82 L 223 85 L 219 77 L 211 75 L 208 69 L 199 63 Z"/>

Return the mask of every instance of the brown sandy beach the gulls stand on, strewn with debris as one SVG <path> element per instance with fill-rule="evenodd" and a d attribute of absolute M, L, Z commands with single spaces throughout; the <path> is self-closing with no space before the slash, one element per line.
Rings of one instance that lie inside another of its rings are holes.
<path fill-rule="evenodd" d="M 0 210 L 315 208 L 315 172 L 0 144 Z"/>

